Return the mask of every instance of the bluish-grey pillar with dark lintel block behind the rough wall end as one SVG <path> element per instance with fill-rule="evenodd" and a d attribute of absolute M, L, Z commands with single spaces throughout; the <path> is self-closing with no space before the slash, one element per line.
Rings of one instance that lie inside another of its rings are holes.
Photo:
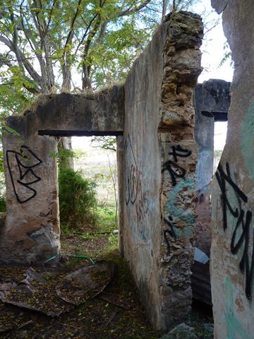
<path fill-rule="evenodd" d="M 211 180 L 214 167 L 214 121 L 226 121 L 230 83 L 210 79 L 195 87 L 195 141 L 198 164 L 195 171 L 195 246 L 210 256 L 212 242 Z"/>

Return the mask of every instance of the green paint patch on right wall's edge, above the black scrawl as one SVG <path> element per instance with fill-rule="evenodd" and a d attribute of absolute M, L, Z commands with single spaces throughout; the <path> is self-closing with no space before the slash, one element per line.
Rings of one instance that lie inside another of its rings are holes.
<path fill-rule="evenodd" d="M 241 153 L 248 169 L 250 179 L 254 182 L 254 101 L 250 103 L 248 112 L 241 125 Z"/>

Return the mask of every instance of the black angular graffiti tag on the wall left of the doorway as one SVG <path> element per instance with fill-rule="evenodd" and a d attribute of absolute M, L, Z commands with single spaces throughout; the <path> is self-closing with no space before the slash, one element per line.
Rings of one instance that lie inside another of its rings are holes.
<path fill-rule="evenodd" d="M 16 164 L 18 165 L 18 179 L 14 179 L 13 169 L 11 168 L 10 157 L 14 155 L 16 159 Z M 20 147 L 20 153 L 15 150 L 6 151 L 6 161 L 8 172 L 10 173 L 11 183 L 13 185 L 13 191 L 16 195 L 16 198 L 19 203 L 26 203 L 30 199 L 34 198 L 37 194 L 37 191 L 31 187 L 32 184 L 40 182 L 41 178 L 37 176 L 34 172 L 34 168 L 42 163 L 42 160 L 35 155 L 28 146 L 22 145 Z M 30 178 L 30 179 L 29 179 Z M 25 186 L 30 191 L 30 196 L 28 198 L 22 199 L 18 196 L 18 184 Z"/>

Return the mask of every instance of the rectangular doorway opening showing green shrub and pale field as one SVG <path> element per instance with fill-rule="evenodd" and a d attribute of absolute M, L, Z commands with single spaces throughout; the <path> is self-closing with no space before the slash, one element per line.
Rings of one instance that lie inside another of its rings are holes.
<path fill-rule="evenodd" d="M 116 137 L 73 136 L 71 145 L 73 168 L 58 166 L 61 252 L 97 258 L 119 248 Z"/>

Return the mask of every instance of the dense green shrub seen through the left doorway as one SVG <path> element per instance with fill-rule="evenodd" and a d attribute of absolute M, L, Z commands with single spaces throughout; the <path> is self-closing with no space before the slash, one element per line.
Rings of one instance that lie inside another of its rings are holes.
<path fill-rule="evenodd" d="M 60 221 L 63 233 L 96 227 L 96 184 L 71 168 L 59 168 Z"/>

